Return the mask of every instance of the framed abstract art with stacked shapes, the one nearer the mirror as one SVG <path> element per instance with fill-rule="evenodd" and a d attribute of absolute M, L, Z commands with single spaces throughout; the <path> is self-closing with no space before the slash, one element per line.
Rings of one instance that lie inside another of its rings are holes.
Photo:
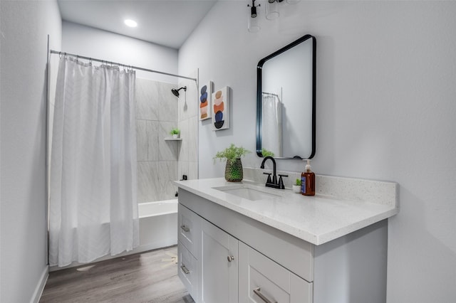
<path fill-rule="evenodd" d="M 229 87 L 215 90 L 212 94 L 212 127 L 214 130 L 229 129 Z"/>

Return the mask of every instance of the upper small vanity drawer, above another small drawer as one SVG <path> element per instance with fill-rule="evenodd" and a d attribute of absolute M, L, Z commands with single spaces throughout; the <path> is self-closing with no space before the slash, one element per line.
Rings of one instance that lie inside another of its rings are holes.
<path fill-rule="evenodd" d="M 180 243 L 194 256 L 198 256 L 201 237 L 201 218 L 190 209 L 178 206 L 178 235 Z"/>

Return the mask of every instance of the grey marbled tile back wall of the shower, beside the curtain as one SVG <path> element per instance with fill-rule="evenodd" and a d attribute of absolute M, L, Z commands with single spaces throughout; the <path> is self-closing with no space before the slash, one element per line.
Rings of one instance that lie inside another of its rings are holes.
<path fill-rule="evenodd" d="M 178 99 L 171 92 L 175 86 L 136 78 L 138 203 L 175 198 L 172 181 L 178 179 L 181 143 L 165 141 L 178 126 Z"/>

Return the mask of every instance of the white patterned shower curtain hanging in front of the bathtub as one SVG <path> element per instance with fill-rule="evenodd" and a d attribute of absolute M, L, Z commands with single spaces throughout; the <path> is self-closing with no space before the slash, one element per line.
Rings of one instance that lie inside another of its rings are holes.
<path fill-rule="evenodd" d="M 132 250 L 136 201 L 135 72 L 59 63 L 51 147 L 49 262 Z"/>

